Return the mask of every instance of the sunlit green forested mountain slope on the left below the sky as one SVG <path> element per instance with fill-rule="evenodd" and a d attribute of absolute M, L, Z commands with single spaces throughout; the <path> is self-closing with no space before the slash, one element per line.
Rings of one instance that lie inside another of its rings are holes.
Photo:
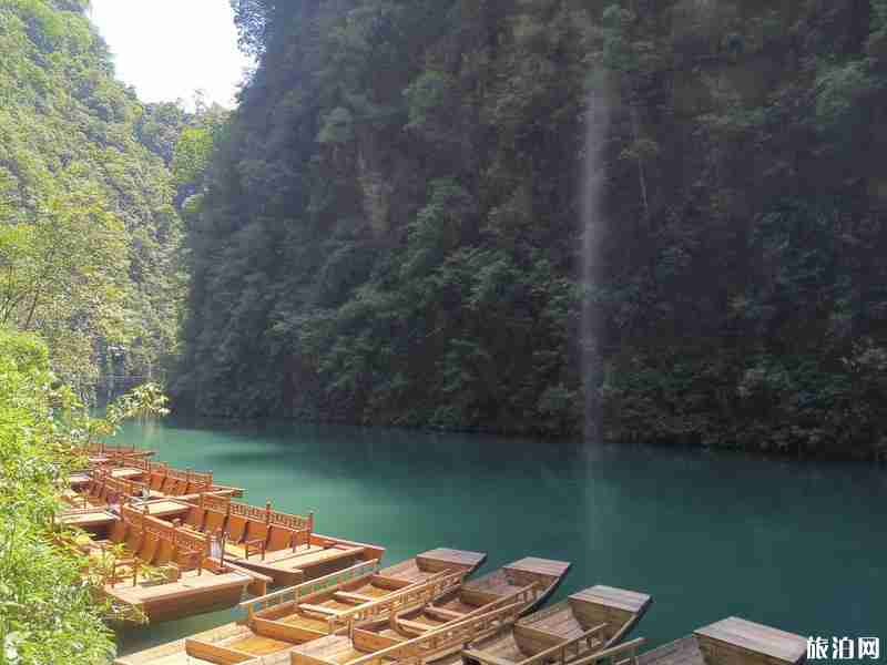
<path fill-rule="evenodd" d="M 0 0 L 0 325 L 40 332 L 84 390 L 161 374 L 184 288 L 175 188 L 147 146 L 176 119 L 114 80 L 86 6 Z"/>

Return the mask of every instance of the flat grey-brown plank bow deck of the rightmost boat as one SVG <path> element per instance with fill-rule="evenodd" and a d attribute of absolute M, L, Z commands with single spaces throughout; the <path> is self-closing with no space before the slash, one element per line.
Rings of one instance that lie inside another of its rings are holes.
<path fill-rule="evenodd" d="M 694 635 L 703 654 L 723 651 L 722 645 L 726 644 L 741 652 L 762 654 L 784 663 L 798 663 L 807 653 L 807 641 L 804 637 L 736 616 L 700 628 Z"/>

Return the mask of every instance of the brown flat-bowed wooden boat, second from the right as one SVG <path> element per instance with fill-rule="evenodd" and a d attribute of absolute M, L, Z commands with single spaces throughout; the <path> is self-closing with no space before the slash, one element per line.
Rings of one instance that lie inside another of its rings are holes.
<path fill-rule="evenodd" d="M 469 665 L 572 663 L 622 640 L 650 603 L 644 593 L 592 586 L 473 641 L 462 651 L 462 659 Z"/>

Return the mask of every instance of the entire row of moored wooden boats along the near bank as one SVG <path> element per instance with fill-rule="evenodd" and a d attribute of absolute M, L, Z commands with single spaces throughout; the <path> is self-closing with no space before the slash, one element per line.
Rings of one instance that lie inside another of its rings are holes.
<path fill-rule="evenodd" d="M 541 608 L 569 562 L 440 548 L 381 565 L 384 548 L 320 535 L 314 515 L 235 501 L 211 473 L 94 447 L 62 521 L 122 616 L 161 622 L 238 605 L 239 621 L 118 665 L 734 665 L 799 663 L 806 640 L 728 617 L 642 653 L 649 594 L 594 585 Z M 278 587 L 268 592 L 271 587 Z M 252 595 L 244 601 L 245 595 Z"/>

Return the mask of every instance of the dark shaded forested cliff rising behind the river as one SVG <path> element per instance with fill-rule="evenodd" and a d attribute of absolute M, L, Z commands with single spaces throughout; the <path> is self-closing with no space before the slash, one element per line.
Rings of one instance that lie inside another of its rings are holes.
<path fill-rule="evenodd" d="M 190 243 L 180 405 L 871 454 L 885 0 L 234 0 L 259 65 Z"/>

